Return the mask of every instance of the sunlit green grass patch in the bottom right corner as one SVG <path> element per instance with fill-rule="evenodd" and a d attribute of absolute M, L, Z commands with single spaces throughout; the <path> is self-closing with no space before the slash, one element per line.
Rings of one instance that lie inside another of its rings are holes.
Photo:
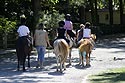
<path fill-rule="evenodd" d="M 125 68 L 110 69 L 88 78 L 89 83 L 125 83 Z"/>

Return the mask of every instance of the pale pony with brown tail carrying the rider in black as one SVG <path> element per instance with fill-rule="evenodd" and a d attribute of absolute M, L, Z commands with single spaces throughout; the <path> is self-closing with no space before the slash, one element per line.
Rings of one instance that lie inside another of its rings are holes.
<path fill-rule="evenodd" d="M 64 70 L 66 70 L 66 59 L 69 54 L 69 46 L 64 39 L 57 39 L 54 41 L 54 53 L 57 58 L 57 71 L 58 64 L 60 63 L 60 72 L 62 73 L 62 66 L 64 66 Z"/>

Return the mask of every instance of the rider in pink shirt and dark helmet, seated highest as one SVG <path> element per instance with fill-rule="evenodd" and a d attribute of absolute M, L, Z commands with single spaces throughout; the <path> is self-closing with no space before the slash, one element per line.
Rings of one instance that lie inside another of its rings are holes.
<path fill-rule="evenodd" d="M 70 14 L 66 14 L 65 16 L 65 25 L 64 25 L 64 29 L 66 29 L 67 34 L 73 38 L 73 40 L 75 39 L 76 35 L 75 33 L 72 31 L 73 30 L 73 23 L 71 21 L 71 15 Z"/>

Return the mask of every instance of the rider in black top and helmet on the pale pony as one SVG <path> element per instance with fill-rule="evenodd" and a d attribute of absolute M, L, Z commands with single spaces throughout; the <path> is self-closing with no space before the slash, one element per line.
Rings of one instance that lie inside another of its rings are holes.
<path fill-rule="evenodd" d="M 56 39 L 64 39 L 69 44 L 69 40 L 66 38 L 66 29 L 64 29 L 65 22 L 59 21 L 59 28 L 57 28 L 57 38 Z"/>

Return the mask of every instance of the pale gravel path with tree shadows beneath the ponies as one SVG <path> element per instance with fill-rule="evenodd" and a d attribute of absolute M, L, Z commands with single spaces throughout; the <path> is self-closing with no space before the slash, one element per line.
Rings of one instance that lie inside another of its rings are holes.
<path fill-rule="evenodd" d="M 110 68 L 125 67 L 124 35 L 112 39 L 105 37 L 98 41 L 96 47 L 96 50 L 93 50 L 91 54 L 91 67 L 88 68 L 78 65 L 78 49 L 74 48 L 72 65 L 68 66 L 67 63 L 67 70 L 62 74 L 56 72 L 56 59 L 52 51 L 46 53 L 44 69 L 35 68 L 37 55 L 33 53 L 31 68 L 27 68 L 26 72 L 16 71 L 16 56 L 11 54 L 9 57 L 0 59 L 0 83 L 87 83 L 88 75 Z M 14 50 L 12 51 L 14 52 Z M 116 57 L 116 60 L 114 60 L 114 57 Z"/>

